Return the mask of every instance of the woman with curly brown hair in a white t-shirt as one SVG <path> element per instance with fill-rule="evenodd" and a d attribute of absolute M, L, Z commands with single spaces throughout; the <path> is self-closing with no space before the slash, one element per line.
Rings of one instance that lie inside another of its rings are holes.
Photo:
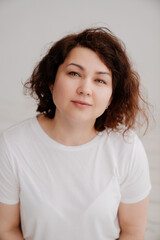
<path fill-rule="evenodd" d="M 25 84 L 40 114 L 1 134 L 0 239 L 144 239 L 151 184 L 131 130 L 137 115 L 147 121 L 139 84 L 106 28 L 51 47 Z"/>

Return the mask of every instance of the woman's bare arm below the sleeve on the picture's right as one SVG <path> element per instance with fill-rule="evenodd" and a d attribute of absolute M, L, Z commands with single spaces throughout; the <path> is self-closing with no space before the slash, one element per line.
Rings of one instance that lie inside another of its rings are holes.
<path fill-rule="evenodd" d="M 149 197 L 134 203 L 120 203 L 119 207 L 119 240 L 144 240 L 147 222 Z"/>

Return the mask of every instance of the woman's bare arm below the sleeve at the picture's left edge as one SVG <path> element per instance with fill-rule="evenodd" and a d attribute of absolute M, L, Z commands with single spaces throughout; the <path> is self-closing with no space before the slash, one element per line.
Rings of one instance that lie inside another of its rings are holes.
<path fill-rule="evenodd" d="M 0 240 L 23 240 L 19 204 L 0 203 Z"/>

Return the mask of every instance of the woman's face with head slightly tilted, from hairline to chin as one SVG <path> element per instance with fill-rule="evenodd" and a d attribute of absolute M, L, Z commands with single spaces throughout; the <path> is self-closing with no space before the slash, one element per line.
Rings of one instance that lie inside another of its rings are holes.
<path fill-rule="evenodd" d="M 110 104 L 112 73 L 94 51 L 75 47 L 59 66 L 50 89 L 55 117 L 94 124 Z"/>

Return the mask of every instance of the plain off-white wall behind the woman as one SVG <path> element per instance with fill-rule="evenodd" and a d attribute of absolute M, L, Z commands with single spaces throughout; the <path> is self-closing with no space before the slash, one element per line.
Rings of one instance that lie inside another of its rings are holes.
<path fill-rule="evenodd" d="M 51 44 L 88 27 L 110 28 L 127 47 L 153 105 L 155 122 L 142 139 L 152 192 L 147 240 L 160 239 L 160 1 L 0 0 L 0 132 L 35 115 L 23 85 Z"/>

